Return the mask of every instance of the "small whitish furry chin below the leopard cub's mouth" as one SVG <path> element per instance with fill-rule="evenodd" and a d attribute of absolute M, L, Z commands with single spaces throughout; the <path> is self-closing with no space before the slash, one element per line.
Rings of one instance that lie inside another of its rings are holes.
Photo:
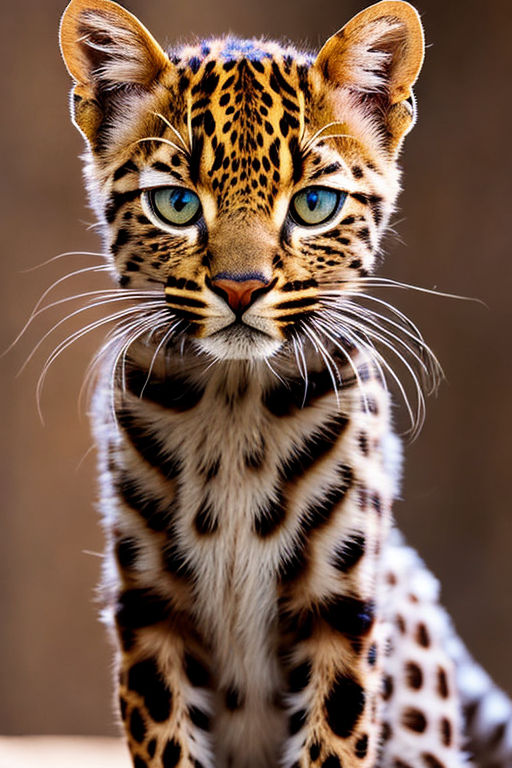
<path fill-rule="evenodd" d="M 196 341 L 202 352 L 217 360 L 264 360 L 272 357 L 282 343 L 266 333 L 238 324 Z"/>

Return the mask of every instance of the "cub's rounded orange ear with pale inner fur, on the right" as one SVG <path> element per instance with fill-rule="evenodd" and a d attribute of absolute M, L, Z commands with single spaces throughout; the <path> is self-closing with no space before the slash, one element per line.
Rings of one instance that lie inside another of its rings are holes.
<path fill-rule="evenodd" d="M 412 86 L 424 50 L 416 9 L 401 0 L 383 0 L 330 37 L 315 66 L 331 85 L 348 88 L 382 117 L 394 148 L 414 124 Z"/>

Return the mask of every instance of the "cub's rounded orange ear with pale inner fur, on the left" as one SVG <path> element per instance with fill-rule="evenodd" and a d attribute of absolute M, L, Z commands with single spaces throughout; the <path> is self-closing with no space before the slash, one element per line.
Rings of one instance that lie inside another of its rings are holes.
<path fill-rule="evenodd" d="M 73 119 L 94 147 L 116 90 L 149 89 L 169 59 L 131 13 L 110 0 L 71 0 L 60 23 L 60 47 L 73 91 Z"/>

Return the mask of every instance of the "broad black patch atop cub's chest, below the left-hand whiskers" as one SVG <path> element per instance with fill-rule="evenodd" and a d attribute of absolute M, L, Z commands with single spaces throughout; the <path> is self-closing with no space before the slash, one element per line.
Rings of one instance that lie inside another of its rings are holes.
<path fill-rule="evenodd" d="M 180 376 L 148 381 L 148 372 L 133 366 L 126 371 L 126 388 L 137 398 L 179 413 L 195 408 L 204 394 L 203 387 Z"/>

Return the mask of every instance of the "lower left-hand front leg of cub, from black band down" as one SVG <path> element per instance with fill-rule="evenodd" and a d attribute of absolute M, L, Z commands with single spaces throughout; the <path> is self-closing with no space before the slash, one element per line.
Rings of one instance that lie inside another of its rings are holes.
<path fill-rule="evenodd" d="M 116 623 L 119 706 L 134 768 L 213 768 L 210 673 L 186 622 L 150 590 L 129 589 Z"/>

